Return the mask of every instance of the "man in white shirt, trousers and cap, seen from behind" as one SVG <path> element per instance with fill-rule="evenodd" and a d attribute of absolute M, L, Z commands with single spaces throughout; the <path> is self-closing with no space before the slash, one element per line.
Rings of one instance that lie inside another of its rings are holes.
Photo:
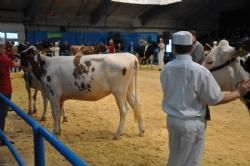
<path fill-rule="evenodd" d="M 250 90 L 243 81 L 236 91 L 222 93 L 205 67 L 192 61 L 192 34 L 173 34 L 176 59 L 167 63 L 160 75 L 162 109 L 167 113 L 169 136 L 168 166 L 199 166 L 205 136 L 206 104 L 230 102 Z"/>

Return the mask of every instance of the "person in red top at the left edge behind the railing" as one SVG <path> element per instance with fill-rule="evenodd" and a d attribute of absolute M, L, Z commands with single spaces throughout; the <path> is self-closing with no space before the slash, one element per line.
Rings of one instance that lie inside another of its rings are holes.
<path fill-rule="evenodd" d="M 0 93 L 2 93 L 7 98 L 11 98 L 12 87 L 10 80 L 10 67 L 19 67 L 19 62 L 12 61 L 5 54 L 5 40 L 0 38 Z M 8 113 L 8 105 L 6 105 L 2 100 L 0 100 L 0 129 L 4 131 L 5 119 Z M 5 145 L 0 138 L 0 145 Z"/>

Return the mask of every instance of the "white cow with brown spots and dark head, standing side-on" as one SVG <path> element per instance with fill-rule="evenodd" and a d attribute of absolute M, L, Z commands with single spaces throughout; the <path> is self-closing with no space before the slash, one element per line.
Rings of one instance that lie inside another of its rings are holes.
<path fill-rule="evenodd" d="M 112 94 L 120 112 L 120 122 L 114 139 L 123 130 L 127 103 L 138 122 L 139 136 L 144 126 L 137 99 L 137 58 L 130 53 L 93 54 L 89 56 L 46 57 L 34 46 L 23 50 L 32 66 L 32 73 L 41 81 L 50 100 L 54 134 L 60 134 L 61 108 L 65 100 L 97 101 Z"/>

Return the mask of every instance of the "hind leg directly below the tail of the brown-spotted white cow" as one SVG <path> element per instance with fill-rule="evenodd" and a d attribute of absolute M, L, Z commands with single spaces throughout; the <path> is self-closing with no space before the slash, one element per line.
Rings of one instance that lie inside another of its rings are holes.
<path fill-rule="evenodd" d="M 127 100 L 128 100 L 129 105 L 132 107 L 132 109 L 134 111 L 135 119 L 138 122 L 139 136 L 143 137 L 144 125 L 143 125 L 143 121 L 142 121 L 142 117 L 141 117 L 140 105 L 139 105 L 135 95 L 130 90 L 128 91 L 128 94 L 127 94 Z"/>

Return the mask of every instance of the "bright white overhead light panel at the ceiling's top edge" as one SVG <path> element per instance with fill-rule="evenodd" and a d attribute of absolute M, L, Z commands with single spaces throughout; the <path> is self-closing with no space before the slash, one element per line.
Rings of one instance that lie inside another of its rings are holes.
<path fill-rule="evenodd" d="M 169 5 L 182 0 L 111 0 L 113 2 L 132 3 L 141 5 Z"/>

